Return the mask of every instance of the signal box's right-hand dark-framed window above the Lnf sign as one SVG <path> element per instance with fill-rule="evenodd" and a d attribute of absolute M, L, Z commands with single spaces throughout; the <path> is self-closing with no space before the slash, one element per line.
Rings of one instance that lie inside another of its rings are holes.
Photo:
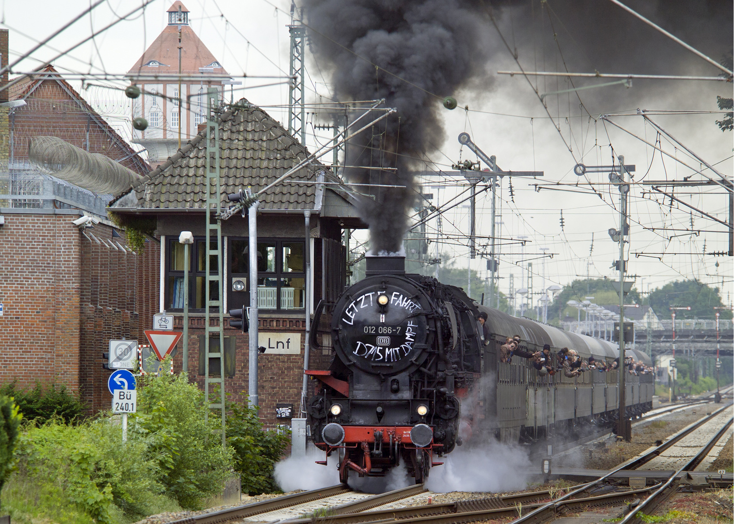
<path fill-rule="evenodd" d="M 250 277 L 247 239 L 230 239 L 230 308 L 246 302 L 244 291 L 236 293 L 234 280 Z M 305 307 L 305 244 L 297 240 L 258 241 L 258 308 L 302 310 Z"/>

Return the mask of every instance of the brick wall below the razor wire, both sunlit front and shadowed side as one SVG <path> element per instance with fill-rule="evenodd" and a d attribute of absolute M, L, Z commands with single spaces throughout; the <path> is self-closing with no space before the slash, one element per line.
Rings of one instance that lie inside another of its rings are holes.
<path fill-rule="evenodd" d="M 0 384 L 57 382 L 90 407 L 109 407 L 101 352 L 109 339 L 145 341 L 157 312 L 159 244 L 116 249 L 103 224 L 80 233 L 76 214 L 5 214 L 0 227 Z M 151 291 L 152 290 L 152 291 Z"/>

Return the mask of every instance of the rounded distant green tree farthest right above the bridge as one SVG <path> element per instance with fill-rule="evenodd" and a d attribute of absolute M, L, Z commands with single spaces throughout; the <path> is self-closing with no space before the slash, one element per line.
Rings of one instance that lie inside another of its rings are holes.
<path fill-rule="evenodd" d="M 713 319 L 716 310 L 723 307 L 719 288 L 710 288 L 698 280 L 676 280 L 650 293 L 650 306 L 661 319 L 670 314 L 672 306 L 691 307 L 690 311 L 677 311 L 678 318 Z M 731 310 L 721 310 L 721 317 L 731 319 Z"/>

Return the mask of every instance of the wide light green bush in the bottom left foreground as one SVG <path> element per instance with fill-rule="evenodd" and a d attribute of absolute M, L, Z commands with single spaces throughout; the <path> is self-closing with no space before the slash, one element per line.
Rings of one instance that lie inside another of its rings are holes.
<path fill-rule="evenodd" d="M 149 446 L 143 438 L 123 445 L 118 417 L 28 426 L 9 483 L 13 520 L 112 524 L 177 507 L 162 495 Z"/>

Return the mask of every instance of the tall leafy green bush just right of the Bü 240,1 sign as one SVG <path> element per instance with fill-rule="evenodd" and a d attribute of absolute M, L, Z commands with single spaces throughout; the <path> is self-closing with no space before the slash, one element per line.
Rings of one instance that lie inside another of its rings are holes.
<path fill-rule="evenodd" d="M 167 363 L 163 364 L 166 368 Z M 232 451 L 222 449 L 217 416 L 204 421 L 204 394 L 186 374 L 152 374 L 138 379 L 137 413 L 130 434 L 150 441 L 165 493 L 183 508 L 200 509 L 220 495 L 233 467 Z"/>

